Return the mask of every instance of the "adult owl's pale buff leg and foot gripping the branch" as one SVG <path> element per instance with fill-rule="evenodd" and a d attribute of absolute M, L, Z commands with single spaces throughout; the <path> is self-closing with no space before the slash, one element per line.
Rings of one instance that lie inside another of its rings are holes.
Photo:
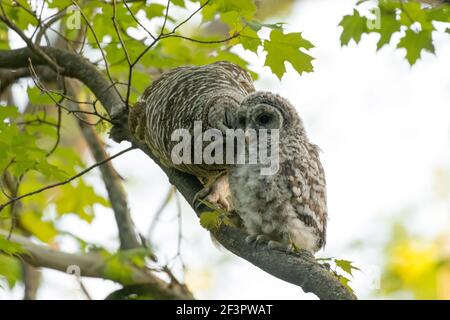
<path fill-rule="evenodd" d="M 206 186 L 194 197 L 194 206 L 199 210 L 204 203 L 209 202 L 217 207 L 230 212 L 233 209 L 227 175 L 219 177 L 211 186 Z"/>

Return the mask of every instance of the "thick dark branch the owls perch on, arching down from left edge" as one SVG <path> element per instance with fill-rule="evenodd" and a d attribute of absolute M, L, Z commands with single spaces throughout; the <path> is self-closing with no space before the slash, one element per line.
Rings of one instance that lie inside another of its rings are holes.
<path fill-rule="evenodd" d="M 111 136 L 116 141 L 127 140 L 145 152 L 167 174 L 170 183 L 176 186 L 183 197 L 194 207 L 194 196 L 202 188 L 197 178 L 175 169 L 161 165 L 145 144 L 137 141 L 128 131 L 128 111 L 117 93 L 110 89 L 109 82 L 93 65 L 77 55 L 51 48 L 42 48 L 44 52 L 57 60 L 64 68 L 64 75 L 74 77 L 87 85 L 101 100 L 110 116 L 116 119 L 115 130 Z M 27 66 L 27 59 L 34 64 L 44 64 L 32 51 L 27 48 L 11 51 L 0 50 L 0 68 L 20 68 Z M 201 212 L 198 211 L 197 215 Z M 228 250 L 246 259 L 255 266 L 273 276 L 295 284 L 305 292 L 312 292 L 320 299 L 356 299 L 339 280 L 328 270 L 314 260 L 306 252 L 292 255 L 265 247 L 254 247 L 245 242 L 246 234 L 238 229 L 222 226 L 214 232 L 216 239 Z"/>

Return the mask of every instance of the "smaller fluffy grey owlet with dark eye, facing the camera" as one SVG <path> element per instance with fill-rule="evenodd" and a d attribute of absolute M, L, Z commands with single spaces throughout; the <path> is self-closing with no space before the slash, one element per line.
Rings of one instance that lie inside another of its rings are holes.
<path fill-rule="evenodd" d="M 279 130 L 277 141 L 267 139 L 278 143 L 277 172 L 261 174 L 261 163 L 228 168 L 233 206 L 248 241 L 318 251 L 326 238 L 325 175 L 318 147 L 309 141 L 295 108 L 279 95 L 258 91 L 241 102 L 236 119 L 235 127 L 245 131 Z"/>

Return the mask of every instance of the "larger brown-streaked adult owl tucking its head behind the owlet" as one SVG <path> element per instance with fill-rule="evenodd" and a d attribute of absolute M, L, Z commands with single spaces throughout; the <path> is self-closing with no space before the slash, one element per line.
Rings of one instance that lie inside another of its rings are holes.
<path fill-rule="evenodd" d="M 201 121 L 202 130 L 228 129 L 241 101 L 254 91 L 250 74 L 231 62 L 175 68 L 144 91 L 130 111 L 129 128 L 164 166 L 192 174 L 206 184 L 224 172 L 226 165 L 196 164 L 194 159 L 175 164 L 171 152 L 178 142 L 172 133 L 186 129 L 193 135 L 196 121 Z"/>

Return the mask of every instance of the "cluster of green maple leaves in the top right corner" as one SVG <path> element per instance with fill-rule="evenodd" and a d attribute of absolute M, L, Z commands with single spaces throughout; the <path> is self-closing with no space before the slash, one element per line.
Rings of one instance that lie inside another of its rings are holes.
<path fill-rule="evenodd" d="M 364 34 L 375 33 L 380 36 L 377 43 L 380 50 L 391 42 L 393 35 L 399 34 L 397 48 L 405 49 L 407 61 L 414 65 L 422 52 L 435 53 L 433 34 L 450 36 L 449 23 L 450 5 L 446 3 L 431 7 L 418 1 L 380 0 L 374 4 L 362 0 L 340 22 L 343 28 L 340 40 L 344 46 L 351 40 L 359 43 Z"/>

